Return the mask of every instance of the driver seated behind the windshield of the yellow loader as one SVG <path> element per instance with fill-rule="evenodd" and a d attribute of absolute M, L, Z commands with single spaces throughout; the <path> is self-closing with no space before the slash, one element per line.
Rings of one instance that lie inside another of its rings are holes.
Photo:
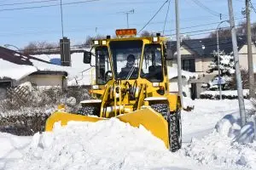
<path fill-rule="evenodd" d="M 119 72 L 119 78 L 136 78 L 138 73 L 138 68 L 135 67 L 135 56 L 133 54 L 129 54 L 127 56 L 127 63 L 124 68 Z"/>

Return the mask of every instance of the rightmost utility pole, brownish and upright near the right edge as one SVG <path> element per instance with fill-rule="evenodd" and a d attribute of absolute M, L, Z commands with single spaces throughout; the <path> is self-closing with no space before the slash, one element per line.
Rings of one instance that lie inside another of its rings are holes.
<path fill-rule="evenodd" d="M 252 54 L 252 31 L 250 19 L 250 1 L 246 0 L 246 15 L 247 15 L 247 61 L 249 73 L 249 95 L 250 98 L 255 98 L 254 77 L 253 77 L 253 54 Z"/>

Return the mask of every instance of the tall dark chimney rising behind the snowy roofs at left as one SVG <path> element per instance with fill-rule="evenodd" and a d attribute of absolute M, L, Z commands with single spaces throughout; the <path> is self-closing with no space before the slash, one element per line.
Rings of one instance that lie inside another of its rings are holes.
<path fill-rule="evenodd" d="M 67 37 L 63 37 L 60 40 L 61 47 L 61 65 L 71 66 L 71 57 L 70 57 L 70 40 Z"/>

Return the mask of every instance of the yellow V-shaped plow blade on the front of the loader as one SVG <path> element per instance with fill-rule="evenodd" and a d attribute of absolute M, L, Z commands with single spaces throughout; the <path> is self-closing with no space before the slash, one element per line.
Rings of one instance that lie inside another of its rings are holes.
<path fill-rule="evenodd" d="M 169 149 L 168 122 L 166 122 L 165 118 L 161 116 L 160 113 L 151 108 L 146 108 L 123 114 L 117 116 L 116 118 L 118 118 L 121 122 L 129 123 L 132 127 L 139 127 L 140 125 L 143 125 L 143 127 L 150 131 L 155 137 L 161 139 L 166 144 L 166 148 Z M 45 131 L 52 131 L 55 122 L 61 122 L 61 126 L 65 126 L 69 121 L 98 122 L 102 120 L 108 119 L 56 111 L 47 119 Z"/>

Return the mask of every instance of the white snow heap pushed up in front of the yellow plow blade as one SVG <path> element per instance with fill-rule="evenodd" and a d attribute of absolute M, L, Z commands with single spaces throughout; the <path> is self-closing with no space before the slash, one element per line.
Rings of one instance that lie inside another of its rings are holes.
<path fill-rule="evenodd" d="M 53 133 L 35 134 L 30 149 L 6 169 L 205 169 L 166 150 L 144 127 L 117 119 L 55 124 Z"/>

